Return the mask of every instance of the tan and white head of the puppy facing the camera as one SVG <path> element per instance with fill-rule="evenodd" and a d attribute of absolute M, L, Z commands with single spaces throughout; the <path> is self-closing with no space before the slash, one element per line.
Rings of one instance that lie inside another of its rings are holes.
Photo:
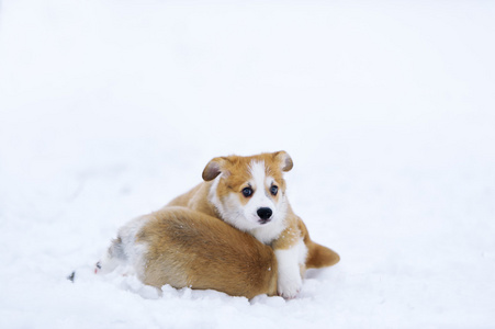
<path fill-rule="evenodd" d="M 223 219 L 240 230 L 281 226 L 286 213 L 283 172 L 292 169 L 285 151 L 220 157 L 203 171 L 213 181 L 210 201 Z"/>

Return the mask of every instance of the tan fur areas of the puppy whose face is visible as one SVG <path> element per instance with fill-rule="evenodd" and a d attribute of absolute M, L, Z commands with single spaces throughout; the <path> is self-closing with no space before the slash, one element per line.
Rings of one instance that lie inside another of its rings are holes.
<path fill-rule="evenodd" d="M 209 201 L 212 180 L 218 174 L 224 173 L 216 191 L 220 197 L 225 196 L 227 193 L 240 193 L 245 188 L 245 182 L 249 179 L 249 173 L 246 168 L 248 168 L 249 163 L 254 160 L 265 162 L 267 174 L 275 180 L 280 192 L 285 193 L 285 181 L 282 172 L 291 170 L 293 164 L 291 158 L 284 151 L 261 154 L 252 157 L 218 157 L 206 164 L 203 171 L 204 182 L 200 183 L 191 191 L 176 197 L 167 204 L 166 207 L 184 206 L 221 218 L 215 206 Z M 339 261 L 340 258 L 335 251 L 315 243 L 310 239 L 306 226 L 302 219 L 294 214 L 290 205 L 285 216 L 285 227 L 286 228 L 282 231 L 280 237 L 271 242 L 273 249 L 288 249 L 291 246 L 294 246 L 299 239 L 303 238 L 304 243 L 308 248 L 306 268 L 329 266 Z"/>

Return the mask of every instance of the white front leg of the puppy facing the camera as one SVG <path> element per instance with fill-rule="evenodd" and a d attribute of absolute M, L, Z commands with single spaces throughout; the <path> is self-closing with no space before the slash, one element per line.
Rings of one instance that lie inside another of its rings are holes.
<path fill-rule="evenodd" d="M 306 245 L 301 239 L 291 248 L 277 249 L 274 253 L 279 264 L 279 295 L 284 298 L 294 298 L 303 285 L 300 265 L 304 264 L 306 260 Z"/>

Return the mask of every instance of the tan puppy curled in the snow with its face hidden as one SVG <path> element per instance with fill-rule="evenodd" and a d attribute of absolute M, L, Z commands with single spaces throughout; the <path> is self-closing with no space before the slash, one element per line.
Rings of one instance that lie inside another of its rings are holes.
<path fill-rule="evenodd" d="M 277 295 L 278 264 L 269 246 L 183 207 L 167 207 L 122 227 L 94 272 L 109 273 L 117 265 L 157 288 L 169 284 L 248 298 Z"/>

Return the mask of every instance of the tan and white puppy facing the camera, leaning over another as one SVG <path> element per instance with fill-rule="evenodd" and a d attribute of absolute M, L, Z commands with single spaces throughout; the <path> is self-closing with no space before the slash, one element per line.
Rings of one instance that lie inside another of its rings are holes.
<path fill-rule="evenodd" d="M 283 173 L 293 162 L 285 151 L 251 157 L 218 157 L 203 170 L 203 182 L 165 206 L 182 206 L 213 216 L 271 246 L 277 259 L 278 294 L 293 298 L 306 268 L 339 261 L 333 250 L 313 242 L 292 211 Z"/>

